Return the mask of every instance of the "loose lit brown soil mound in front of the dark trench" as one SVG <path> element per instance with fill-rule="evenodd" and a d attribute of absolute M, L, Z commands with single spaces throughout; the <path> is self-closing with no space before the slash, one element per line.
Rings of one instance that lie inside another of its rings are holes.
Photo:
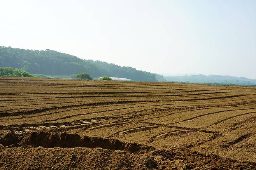
<path fill-rule="evenodd" d="M 1 170 L 157 169 L 154 159 L 147 154 L 136 155 L 101 148 L 11 147 L 1 150 L 0 153 Z"/>

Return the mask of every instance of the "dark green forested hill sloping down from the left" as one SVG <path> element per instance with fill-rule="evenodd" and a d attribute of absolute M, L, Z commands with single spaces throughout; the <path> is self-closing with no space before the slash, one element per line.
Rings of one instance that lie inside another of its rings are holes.
<path fill-rule="evenodd" d="M 111 76 L 157 82 L 153 73 L 102 61 L 83 60 L 48 49 L 39 51 L 0 47 L 0 66 L 19 68 L 32 74 L 73 75 L 86 72 L 93 77 Z"/>

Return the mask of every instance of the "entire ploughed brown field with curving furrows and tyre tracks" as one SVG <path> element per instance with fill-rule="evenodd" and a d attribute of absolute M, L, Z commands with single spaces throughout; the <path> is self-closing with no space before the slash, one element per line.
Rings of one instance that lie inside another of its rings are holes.
<path fill-rule="evenodd" d="M 0 169 L 256 169 L 256 88 L 0 77 Z"/>

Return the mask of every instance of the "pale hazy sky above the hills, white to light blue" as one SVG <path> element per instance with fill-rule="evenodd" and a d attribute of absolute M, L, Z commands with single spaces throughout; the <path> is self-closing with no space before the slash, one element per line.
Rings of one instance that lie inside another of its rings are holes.
<path fill-rule="evenodd" d="M 0 46 L 256 78 L 256 0 L 1 0 Z"/>

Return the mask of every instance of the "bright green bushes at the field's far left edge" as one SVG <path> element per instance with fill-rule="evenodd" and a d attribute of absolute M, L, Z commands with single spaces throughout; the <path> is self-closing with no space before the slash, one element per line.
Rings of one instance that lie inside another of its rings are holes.
<path fill-rule="evenodd" d="M 13 69 L 11 67 L 0 67 L 0 76 L 14 76 L 14 77 L 34 77 L 32 74 L 21 69 Z"/>

